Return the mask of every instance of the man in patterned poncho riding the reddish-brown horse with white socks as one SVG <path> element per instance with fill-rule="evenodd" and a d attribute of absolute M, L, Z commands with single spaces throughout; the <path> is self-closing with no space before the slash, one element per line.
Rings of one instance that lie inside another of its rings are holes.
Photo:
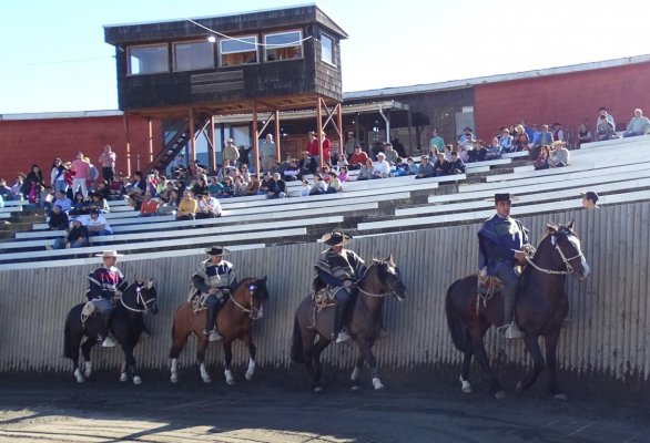
<path fill-rule="evenodd" d="M 205 249 L 210 256 L 207 260 L 201 261 L 192 276 L 193 290 L 190 291 L 187 301 L 197 295 L 205 300 L 207 307 L 207 320 L 205 322 L 204 336 L 210 336 L 210 341 L 221 340 L 221 334 L 214 329 L 216 313 L 226 301 L 232 289 L 235 288 L 237 279 L 235 277 L 233 264 L 223 259 L 227 250 L 222 246 L 212 246 Z"/>

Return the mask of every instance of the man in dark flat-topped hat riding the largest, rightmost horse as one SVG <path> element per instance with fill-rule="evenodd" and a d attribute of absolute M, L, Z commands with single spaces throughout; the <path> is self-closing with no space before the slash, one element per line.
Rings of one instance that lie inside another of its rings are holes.
<path fill-rule="evenodd" d="M 527 255 L 522 249 L 528 245 L 528 229 L 521 222 L 510 217 L 511 202 L 510 194 L 495 194 L 497 213 L 485 220 L 478 231 L 480 272 L 498 276 L 504 284 L 504 323 L 499 330 L 506 330 L 507 339 L 524 337 L 514 319 L 519 287 L 515 267 L 526 262 Z"/>

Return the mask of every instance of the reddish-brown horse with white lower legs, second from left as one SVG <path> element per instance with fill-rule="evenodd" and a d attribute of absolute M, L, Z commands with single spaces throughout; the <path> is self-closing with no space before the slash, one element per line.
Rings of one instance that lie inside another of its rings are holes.
<path fill-rule="evenodd" d="M 231 362 L 233 359 L 232 344 L 236 339 L 242 340 L 248 347 L 248 369 L 246 370 L 246 380 L 252 380 L 255 373 L 255 352 L 256 348 L 253 344 L 253 322 L 262 318 L 263 305 L 268 300 L 268 291 L 266 290 L 266 277 L 257 279 L 248 277 L 240 281 L 237 287 L 232 291 L 231 296 L 224 302 L 216 316 L 216 326 L 223 339 L 223 353 L 225 359 L 224 375 L 227 384 L 235 384 L 235 379 L 231 371 Z M 201 378 L 205 383 L 212 380 L 207 370 L 205 369 L 205 348 L 207 347 L 207 337 L 203 334 L 205 329 L 205 316 L 207 311 L 204 309 L 194 312 L 191 302 L 184 302 L 176 309 L 174 315 L 174 326 L 172 329 L 172 349 L 170 358 L 171 380 L 173 383 L 179 381 L 177 364 L 179 356 L 183 350 L 183 346 L 187 337 L 193 332 L 196 336 L 196 361 L 201 371 Z"/>

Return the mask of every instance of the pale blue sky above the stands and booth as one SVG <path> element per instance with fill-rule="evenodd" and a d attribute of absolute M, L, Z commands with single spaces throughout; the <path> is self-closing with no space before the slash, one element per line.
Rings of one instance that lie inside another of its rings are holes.
<path fill-rule="evenodd" d="M 114 110 L 103 25 L 305 4 L 237 0 L 2 0 L 0 114 Z M 323 0 L 348 34 L 345 92 L 650 53 L 650 1 Z M 396 7 L 397 6 L 397 7 Z"/>

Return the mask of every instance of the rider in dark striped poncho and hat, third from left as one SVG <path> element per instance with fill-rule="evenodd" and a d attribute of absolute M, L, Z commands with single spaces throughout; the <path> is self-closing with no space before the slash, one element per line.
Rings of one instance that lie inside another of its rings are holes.
<path fill-rule="evenodd" d="M 337 343 L 351 338 L 343 324 L 345 310 L 351 298 L 358 291 L 355 284 L 366 272 L 364 260 L 354 251 L 344 248 L 351 239 L 352 236 L 343 230 L 325 234 L 322 240 L 329 248 L 324 250 L 314 264 L 314 290 L 326 286 L 336 299 L 334 334 L 337 336 Z"/>

